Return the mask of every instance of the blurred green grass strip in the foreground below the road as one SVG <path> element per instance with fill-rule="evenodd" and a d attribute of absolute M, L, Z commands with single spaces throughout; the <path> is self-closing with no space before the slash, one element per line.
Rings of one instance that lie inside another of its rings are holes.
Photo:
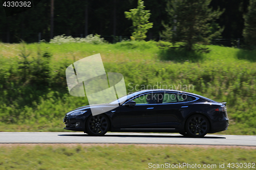
<path fill-rule="evenodd" d="M 5 145 L 0 169 L 158 169 L 159 164 L 200 164 L 199 169 L 228 168 L 228 163 L 255 163 L 255 148 L 215 148 L 179 145 Z M 209 154 L 210 153 L 210 154 Z M 151 164 L 152 163 L 152 164 Z M 223 164 L 225 168 L 220 168 Z M 216 167 L 202 168 L 216 164 Z M 245 165 L 245 164 L 244 164 Z M 163 166 L 162 166 L 163 167 Z M 166 169 L 166 168 L 164 168 Z M 190 169 L 186 166 L 174 169 Z"/>

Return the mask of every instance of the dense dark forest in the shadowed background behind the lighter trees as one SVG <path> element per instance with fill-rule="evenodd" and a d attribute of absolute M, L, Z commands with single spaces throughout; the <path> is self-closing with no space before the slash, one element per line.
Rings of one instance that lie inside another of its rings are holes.
<path fill-rule="evenodd" d="M 150 10 L 150 22 L 153 28 L 147 32 L 146 40 L 159 40 L 164 30 L 162 22 L 168 22 L 166 12 L 167 0 L 146 0 L 144 6 Z M 243 15 L 247 12 L 249 0 L 212 0 L 212 10 L 225 10 L 217 19 L 219 26 L 224 27 L 220 38 L 243 38 Z M 62 0 L 54 1 L 54 31 L 53 35 L 71 35 L 85 37 L 89 34 L 99 34 L 110 42 L 122 38 L 130 38 L 132 21 L 125 18 L 124 12 L 137 7 L 137 0 Z M 51 1 L 41 0 L 33 8 L 6 16 L 3 6 L 0 9 L 0 40 L 2 42 L 36 42 L 38 38 L 50 40 Z M 39 34 L 40 33 L 40 34 Z M 118 36 L 118 37 L 117 37 Z"/>

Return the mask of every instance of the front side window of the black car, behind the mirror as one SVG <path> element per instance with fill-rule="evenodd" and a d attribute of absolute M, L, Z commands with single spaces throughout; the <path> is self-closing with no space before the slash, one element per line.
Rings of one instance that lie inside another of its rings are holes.
<path fill-rule="evenodd" d="M 133 101 L 136 102 L 136 105 L 157 104 L 159 102 L 158 95 L 158 93 L 148 93 L 138 96 Z"/>

